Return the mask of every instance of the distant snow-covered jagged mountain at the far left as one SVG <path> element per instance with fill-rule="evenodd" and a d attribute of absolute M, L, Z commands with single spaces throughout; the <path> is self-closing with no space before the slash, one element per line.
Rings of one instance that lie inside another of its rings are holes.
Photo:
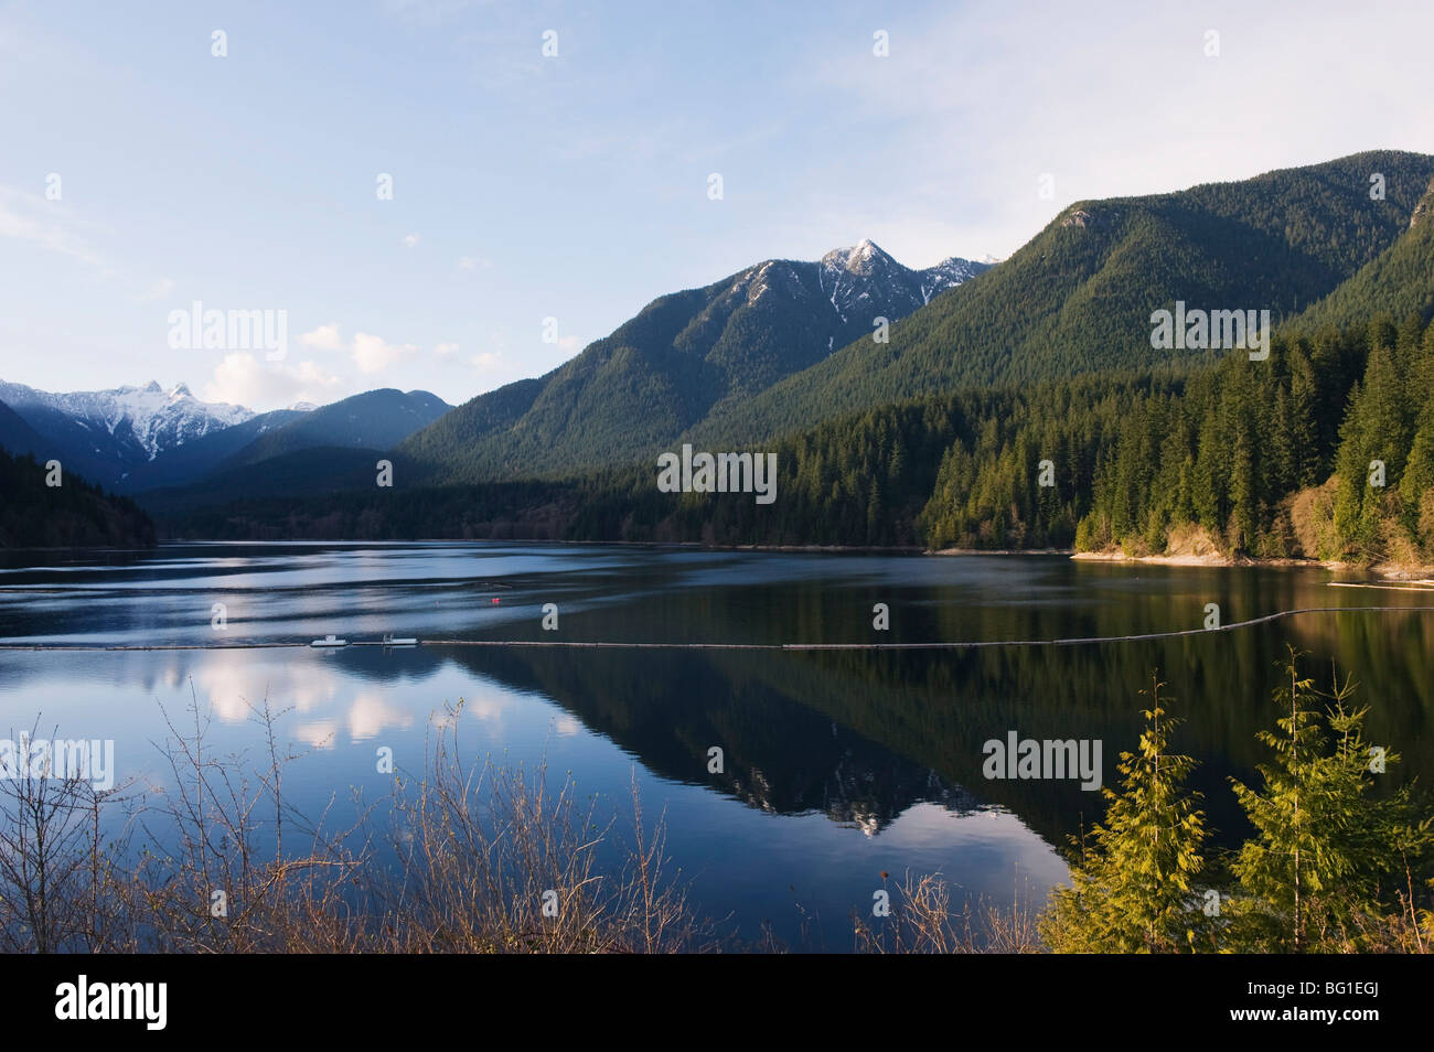
<path fill-rule="evenodd" d="M 250 420 L 242 406 L 199 401 L 184 384 L 52 394 L 0 381 L 0 401 L 13 408 L 59 459 L 92 482 L 113 489 L 166 450 Z"/>

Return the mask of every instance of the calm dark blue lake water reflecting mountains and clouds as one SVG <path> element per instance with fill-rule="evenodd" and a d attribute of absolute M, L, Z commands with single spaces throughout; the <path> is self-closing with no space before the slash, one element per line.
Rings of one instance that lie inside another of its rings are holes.
<path fill-rule="evenodd" d="M 584 793 L 648 817 L 704 912 L 756 936 L 842 949 L 879 874 L 942 871 L 959 894 L 1044 899 L 1055 851 L 1098 818 L 1070 781 L 988 781 L 982 742 L 1098 738 L 1104 778 L 1131 748 L 1159 668 L 1187 722 L 1213 824 L 1242 831 L 1229 775 L 1253 777 L 1253 735 L 1286 642 L 1361 684 L 1367 730 L 1434 778 L 1434 613 L 1314 613 L 1162 641 L 945 651 L 463 648 L 445 639 L 624 642 L 925 642 L 1117 636 L 1229 623 L 1291 608 L 1434 605 L 1434 593 L 1332 588 L 1314 569 L 1076 563 L 1060 556 L 865 556 L 539 545 L 176 545 L 133 562 L 0 569 L 0 639 L 56 646 L 202 644 L 217 649 L 0 651 L 0 727 L 36 717 L 59 737 L 115 740 L 122 778 L 162 791 L 161 705 L 212 712 L 211 747 L 260 751 L 251 705 L 285 709 L 307 750 L 285 774 L 317 811 L 389 784 L 379 747 L 422 767 L 424 731 L 465 699 L 470 754 L 571 771 Z M 495 603 L 493 599 L 498 599 Z M 891 631 L 872 629 L 873 603 Z M 211 625 L 215 603 L 228 628 Z M 559 629 L 541 628 L 556 603 Z M 417 649 L 241 649 L 334 633 L 419 636 Z M 708 748 L 726 770 L 708 774 Z"/>

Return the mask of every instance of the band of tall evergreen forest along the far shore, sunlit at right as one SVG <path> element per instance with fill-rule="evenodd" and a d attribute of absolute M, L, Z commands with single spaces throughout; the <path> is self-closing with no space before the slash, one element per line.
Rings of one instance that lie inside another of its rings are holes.
<path fill-rule="evenodd" d="M 394 500 L 399 490 L 371 486 L 377 456 L 394 457 L 402 490 L 422 467 L 402 453 L 354 450 L 274 457 L 145 502 L 175 529 L 205 536 L 244 536 L 245 527 L 250 536 L 343 536 L 330 530 L 356 525 L 360 510 L 330 516 L 341 505 L 361 509 L 366 532 L 354 539 L 1164 552 L 1203 533 L 1219 550 L 1259 558 L 1434 559 L 1434 386 L 1421 386 L 1424 377 L 1434 377 L 1434 325 L 1407 320 L 1397 330 L 1380 320 L 1276 337 L 1266 361 L 1233 353 L 1189 373 L 898 403 L 757 447 L 777 456 L 770 506 L 744 493 L 660 493 L 654 459 L 533 486 L 452 487 L 466 496 L 422 497 L 435 515 L 422 522 L 417 505 Z M 1369 483 L 1375 459 L 1387 464 L 1382 489 Z M 311 492 L 315 470 L 354 492 L 186 517 L 227 493 Z M 1301 492 L 1331 474 L 1331 507 L 1314 500 L 1302 510 Z M 488 517 L 475 519 L 479 509 Z"/>

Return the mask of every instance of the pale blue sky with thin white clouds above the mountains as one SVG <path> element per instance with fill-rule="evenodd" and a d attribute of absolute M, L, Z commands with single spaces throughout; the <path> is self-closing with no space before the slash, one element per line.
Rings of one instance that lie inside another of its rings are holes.
<path fill-rule="evenodd" d="M 1431 30 L 1428 0 L 0 3 L 0 380 L 457 404 L 763 259 L 1004 258 L 1074 201 L 1434 152 Z M 182 345 L 196 302 L 282 311 L 282 353 Z"/>

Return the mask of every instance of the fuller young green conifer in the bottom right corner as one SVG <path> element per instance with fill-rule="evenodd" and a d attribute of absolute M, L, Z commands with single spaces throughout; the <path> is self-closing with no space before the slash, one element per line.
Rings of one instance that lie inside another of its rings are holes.
<path fill-rule="evenodd" d="M 1232 869 L 1242 949 L 1348 952 L 1365 949 L 1398 906 L 1401 873 L 1412 880 L 1428 861 L 1430 823 L 1414 814 L 1408 787 L 1375 800 L 1369 790 L 1398 755 L 1371 750 L 1367 709 L 1347 708 L 1352 685 L 1336 682 L 1324 717 L 1312 681 L 1289 648 L 1289 685 L 1275 692 L 1283 715 L 1260 740 L 1275 762 L 1259 767 L 1263 791 L 1233 781 L 1255 837 Z M 1329 734 L 1325 728 L 1328 727 Z"/>

